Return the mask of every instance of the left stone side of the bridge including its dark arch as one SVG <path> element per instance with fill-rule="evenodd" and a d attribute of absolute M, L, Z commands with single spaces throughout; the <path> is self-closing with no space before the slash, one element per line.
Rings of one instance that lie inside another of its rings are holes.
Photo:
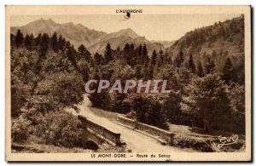
<path fill-rule="evenodd" d="M 120 134 L 102 127 L 102 125 L 92 122 L 87 117 L 78 116 L 82 123 L 83 135 L 82 145 L 85 148 L 96 150 L 104 142 L 112 146 L 121 146 Z"/>

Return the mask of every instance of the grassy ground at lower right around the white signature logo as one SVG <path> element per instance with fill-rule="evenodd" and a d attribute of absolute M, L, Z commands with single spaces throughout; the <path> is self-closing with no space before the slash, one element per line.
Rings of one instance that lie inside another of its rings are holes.
<path fill-rule="evenodd" d="M 189 126 L 176 125 L 169 123 L 170 130 L 176 134 L 175 144 L 181 148 L 193 148 L 199 152 L 244 152 L 245 151 L 245 135 L 238 135 L 238 142 L 233 145 L 223 146 L 218 148 L 220 143 L 218 136 L 222 135 L 230 137 L 236 135 L 221 130 L 212 130 L 211 132 L 205 132 L 200 128 L 192 128 Z"/>

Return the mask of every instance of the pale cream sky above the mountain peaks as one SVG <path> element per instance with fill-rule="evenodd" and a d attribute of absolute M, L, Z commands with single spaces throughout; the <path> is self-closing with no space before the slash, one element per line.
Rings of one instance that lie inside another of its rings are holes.
<path fill-rule="evenodd" d="M 24 26 L 34 20 L 52 19 L 56 23 L 73 22 L 96 31 L 108 33 L 131 28 L 139 36 L 148 40 L 177 40 L 188 32 L 215 22 L 229 20 L 240 14 L 131 14 L 129 20 L 123 15 L 15 15 L 11 17 L 11 26 Z"/>

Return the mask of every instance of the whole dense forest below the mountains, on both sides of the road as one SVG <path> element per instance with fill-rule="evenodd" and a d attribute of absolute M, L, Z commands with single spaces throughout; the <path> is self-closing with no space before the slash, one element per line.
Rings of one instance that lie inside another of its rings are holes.
<path fill-rule="evenodd" d="M 64 110 L 79 112 L 89 79 L 167 80 L 170 94 L 109 94 L 107 89 L 88 94 L 92 106 L 138 122 L 161 129 L 175 123 L 245 132 L 244 74 L 229 56 L 220 66 L 211 56 L 195 61 L 195 54 L 182 48 L 177 54 L 149 54 L 145 43 L 117 49 L 108 43 L 104 54 L 90 54 L 83 44 L 76 49 L 61 34 L 34 37 L 20 30 L 11 34 L 10 42 L 12 141 L 36 137 L 45 144 L 79 146 L 80 123 Z"/>

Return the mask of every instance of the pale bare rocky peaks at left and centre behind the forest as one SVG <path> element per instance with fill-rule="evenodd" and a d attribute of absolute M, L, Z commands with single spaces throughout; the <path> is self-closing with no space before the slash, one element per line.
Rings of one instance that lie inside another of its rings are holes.
<path fill-rule="evenodd" d="M 125 43 L 133 43 L 135 46 L 139 44 L 147 44 L 148 52 L 155 50 L 164 49 L 164 45 L 161 43 L 151 43 L 145 37 L 140 37 L 135 31 L 130 28 L 116 31 L 113 33 L 106 33 L 103 31 L 96 31 L 89 29 L 81 24 L 74 25 L 73 23 L 58 24 L 54 20 L 35 20 L 25 26 L 11 27 L 11 33 L 15 34 L 20 29 L 24 34 L 33 33 L 38 35 L 39 33 L 49 33 L 52 35 L 54 32 L 61 34 L 66 37 L 75 48 L 79 47 L 80 44 L 90 50 L 91 53 L 103 53 L 107 43 L 111 44 L 113 49 L 118 47 L 122 49 Z"/>

